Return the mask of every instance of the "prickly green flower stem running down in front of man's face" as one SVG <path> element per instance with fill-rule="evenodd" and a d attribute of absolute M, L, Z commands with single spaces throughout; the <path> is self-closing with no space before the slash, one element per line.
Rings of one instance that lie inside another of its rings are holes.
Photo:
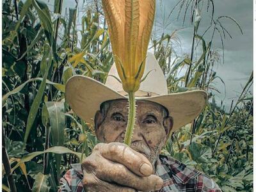
<path fill-rule="evenodd" d="M 134 92 L 129 92 L 129 114 L 128 114 L 128 122 L 126 126 L 125 138 L 124 143 L 128 146 L 131 145 L 132 141 L 132 134 L 133 134 L 133 127 L 135 124 L 135 116 L 136 116 L 136 101 Z"/>

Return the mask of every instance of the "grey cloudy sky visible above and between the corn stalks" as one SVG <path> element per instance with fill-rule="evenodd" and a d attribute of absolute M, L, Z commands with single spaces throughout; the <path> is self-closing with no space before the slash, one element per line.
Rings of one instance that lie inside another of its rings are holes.
<path fill-rule="evenodd" d="M 53 4 L 53 0 L 44 0 L 47 4 Z M 172 33 L 175 29 L 182 29 L 177 34 L 180 38 L 180 47 L 177 47 L 178 54 L 189 54 L 191 52 L 191 44 L 193 38 L 193 26 L 188 22 L 188 19 L 182 25 L 184 12 L 181 12 L 180 19 L 177 20 L 177 11 L 167 19 L 171 10 L 177 4 L 178 0 L 157 0 L 156 20 L 157 25 L 164 27 L 164 33 Z M 207 6 L 207 0 L 204 0 L 204 6 Z M 83 0 L 79 1 L 79 10 Z M 65 0 L 63 3 L 63 12 L 66 8 L 73 8 L 74 0 Z M 177 10 L 179 10 L 177 8 Z M 211 21 L 212 6 L 209 7 L 209 13 L 202 12 L 202 20 L 198 34 L 202 35 L 203 31 L 208 28 Z M 188 10 L 188 15 L 190 10 Z M 79 17 L 82 13 L 79 12 Z M 253 69 L 253 1 L 251 0 L 216 0 L 214 1 L 214 19 L 221 15 L 227 15 L 234 18 L 241 29 L 243 35 L 237 28 L 234 22 L 228 19 L 221 19 L 221 24 L 230 32 L 232 39 L 226 36 L 224 40 L 224 63 L 220 62 L 214 70 L 217 75 L 223 79 L 225 86 L 221 81 L 216 81 L 214 86 L 220 90 L 220 94 L 216 93 L 216 100 L 220 103 L 223 100 L 225 106 L 230 108 L 232 99 L 236 100 L 242 87 L 250 77 Z M 188 17 L 187 17 L 188 18 Z M 159 33 L 162 33 L 160 30 Z M 205 40 L 209 42 L 210 33 L 205 34 Z M 222 56 L 221 40 L 218 33 L 214 36 L 214 50 L 218 50 Z"/>

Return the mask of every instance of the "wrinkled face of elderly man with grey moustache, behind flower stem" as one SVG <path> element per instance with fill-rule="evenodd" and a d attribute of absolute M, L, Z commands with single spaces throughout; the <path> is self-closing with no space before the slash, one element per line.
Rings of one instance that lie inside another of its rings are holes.
<path fill-rule="evenodd" d="M 164 117 L 161 105 L 148 101 L 136 102 L 136 121 L 131 148 L 140 152 L 154 165 L 163 147 L 173 120 Z M 100 142 L 123 142 L 127 125 L 127 100 L 111 100 L 105 118 L 100 111 L 95 115 L 95 132 Z"/>

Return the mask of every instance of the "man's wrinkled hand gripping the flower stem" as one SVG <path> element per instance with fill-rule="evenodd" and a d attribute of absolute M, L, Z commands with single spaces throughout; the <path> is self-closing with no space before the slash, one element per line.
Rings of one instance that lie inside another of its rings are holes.
<path fill-rule="evenodd" d="M 156 191 L 163 186 L 148 159 L 124 143 L 97 144 L 82 168 L 86 191 Z"/>

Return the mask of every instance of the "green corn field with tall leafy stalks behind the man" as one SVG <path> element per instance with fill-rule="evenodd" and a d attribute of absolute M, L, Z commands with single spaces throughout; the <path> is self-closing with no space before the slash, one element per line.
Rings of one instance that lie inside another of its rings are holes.
<path fill-rule="evenodd" d="M 76 74 L 104 83 L 113 65 L 101 1 L 83 1 L 82 8 L 74 1 L 76 6 L 67 10 L 63 0 L 52 0 L 51 8 L 47 3 L 2 2 L 2 191 L 57 191 L 70 164 L 81 163 L 97 144 L 93 125 L 65 102 L 65 84 Z M 196 120 L 172 134 L 161 153 L 209 175 L 223 191 L 252 191 L 253 72 L 230 109 L 216 102 L 220 91 L 214 86 L 221 79 L 214 67 L 224 59 L 214 49 L 214 37 L 224 45 L 230 36 L 221 21 L 243 29 L 232 17 L 215 15 L 213 0 L 179 0 L 173 10 L 191 22 L 190 54 L 175 52 L 175 46 L 182 47 L 179 30 L 159 33 L 157 25 L 149 49 L 169 93 L 200 88 L 209 100 Z M 200 26 L 200 12 L 211 17 L 207 29 Z"/>

